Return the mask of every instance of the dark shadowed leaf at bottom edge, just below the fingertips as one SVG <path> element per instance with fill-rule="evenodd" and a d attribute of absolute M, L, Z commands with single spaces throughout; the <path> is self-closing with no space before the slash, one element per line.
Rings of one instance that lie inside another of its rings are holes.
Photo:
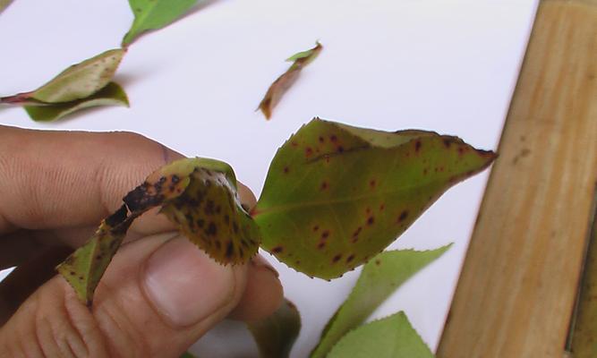
<path fill-rule="evenodd" d="M 287 358 L 301 330 L 301 315 L 294 303 L 284 303 L 269 318 L 247 323 L 261 358 Z"/>

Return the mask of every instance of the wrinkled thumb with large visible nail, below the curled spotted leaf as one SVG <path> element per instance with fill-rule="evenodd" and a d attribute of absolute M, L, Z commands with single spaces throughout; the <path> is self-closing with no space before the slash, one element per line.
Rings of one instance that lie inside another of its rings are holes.
<path fill-rule="evenodd" d="M 91 309 L 62 277 L 39 287 L 0 329 L 0 352 L 177 357 L 236 307 L 246 281 L 247 267 L 221 266 L 183 237 L 138 240 L 115 255 Z"/>

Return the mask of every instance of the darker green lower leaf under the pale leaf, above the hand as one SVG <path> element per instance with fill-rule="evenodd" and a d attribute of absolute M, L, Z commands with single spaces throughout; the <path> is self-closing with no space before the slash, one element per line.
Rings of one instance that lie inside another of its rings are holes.
<path fill-rule="evenodd" d="M 81 109 L 99 106 L 128 107 L 129 100 L 122 87 L 115 82 L 110 82 L 102 90 L 88 98 L 47 106 L 24 106 L 24 108 L 34 121 L 51 122 Z"/>

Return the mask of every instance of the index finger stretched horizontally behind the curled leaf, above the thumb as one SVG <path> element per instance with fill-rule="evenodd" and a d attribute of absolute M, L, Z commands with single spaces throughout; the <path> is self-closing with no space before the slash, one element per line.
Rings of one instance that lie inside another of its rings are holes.
<path fill-rule="evenodd" d="M 0 126 L 0 234 L 95 226 L 147 175 L 182 156 L 132 132 L 47 132 Z M 165 219 L 140 218 L 141 232 Z"/>

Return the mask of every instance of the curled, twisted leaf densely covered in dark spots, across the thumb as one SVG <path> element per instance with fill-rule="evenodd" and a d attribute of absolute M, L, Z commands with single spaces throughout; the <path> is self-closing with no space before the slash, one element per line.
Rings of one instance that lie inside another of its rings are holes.
<path fill-rule="evenodd" d="M 192 243 L 218 262 L 243 263 L 257 252 L 259 228 L 241 206 L 232 168 L 214 159 L 180 159 L 129 192 L 124 206 L 57 267 L 82 302 L 92 302 L 99 279 L 132 221 L 158 206 Z"/>

